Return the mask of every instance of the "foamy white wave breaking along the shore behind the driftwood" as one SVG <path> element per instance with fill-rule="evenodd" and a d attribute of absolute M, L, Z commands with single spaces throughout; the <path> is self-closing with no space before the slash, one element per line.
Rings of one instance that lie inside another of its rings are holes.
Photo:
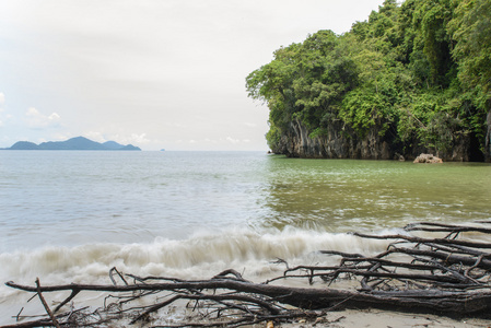
<path fill-rule="evenodd" d="M 290 265 L 326 263 L 332 257 L 324 249 L 375 254 L 385 241 L 361 239 L 346 233 L 323 233 L 287 229 L 265 233 L 229 230 L 198 233 L 187 239 L 157 237 L 150 243 L 87 244 L 75 247 L 44 246 L 0 255 L 0 279 L 33 284 L 110 283 L 108 271 L 116 267 L 125 273 L 186 279 L 207 279 L 234 268 L 247 279 L 262 281 L 281 276 L 284 266 L 272 263 L 281 258 Z M 12 290 L 0 288 L 0 298 Z"/>

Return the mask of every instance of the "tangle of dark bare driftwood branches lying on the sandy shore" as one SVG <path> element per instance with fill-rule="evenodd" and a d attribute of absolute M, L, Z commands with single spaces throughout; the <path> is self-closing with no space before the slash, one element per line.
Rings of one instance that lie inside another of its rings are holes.
<path fill-rule="evenodd" d="M 48 316 L 5 327 L 100 327 L 126 320 L 148 327 L 238 327 L 261 321 L 289 321 L 324 316 L 344 308 L 382 308 L 448 316 L 487 316 L 491 313 L 491 243 L 487 241 L 491 222 L 451 225 L 421 222 L 397 235 L 366 235 L 360 238 L 391 241 L 375 256 L 319 250 L 339 257 L 336 266 L 287 265 L 284 274 L 264 283 L 245 280 L 235 270 L 223 271 L 208 280 L 182 280 L 164 277 L 124 274 L 109 271 L 113 284 L 20 285 L 10 288 L 36 293 Z M 488 225 L 489 226 L 489 225 Z M 421 237 L 409 232 L 437 234 Z M 442 236 L 443 234 L 443 236 Z M 464 234 L 472 234 L 469 238 Z M 477 236 L 481 242 L 477 241 Z M 489 238 L 488 238 L 489 239 Z M 116 279 L 115 279 L 116 277 Z M 309 285 L 292 288 L 287 279 L 306 279 Z M 335 289 L 332 283 L 351 279 L 358 288 Z M 119 282 L 119 284 L 118 284 Z M 43 294 L 70 292 L 51 312 Z M 103 307 L 60 313 L 80 292 L 109 293 Z M 155 301 L 156 300 L 156 301 Z M 166 323 L 160 312 L 176 302 L 187 302 L 194 314 L 178 323 Z M 162 324 L 161 323 L 165 323 Z"/>

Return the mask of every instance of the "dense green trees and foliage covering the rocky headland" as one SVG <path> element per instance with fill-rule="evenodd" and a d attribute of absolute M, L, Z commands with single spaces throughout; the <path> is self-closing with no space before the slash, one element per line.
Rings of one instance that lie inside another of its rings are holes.
<path fill-rule="evenodd" d="M 386 0 L 365 22 L 319 31 L 281 47 L 252 72 L 247 91 L 270 109 L 276 149 L 289 122 L 311 138 L 332 121 L 363 137 L 375 129 L 402 152 L 452 150 L 466 138 L 486 152 L 491 109 L 491 1 Z"/>

